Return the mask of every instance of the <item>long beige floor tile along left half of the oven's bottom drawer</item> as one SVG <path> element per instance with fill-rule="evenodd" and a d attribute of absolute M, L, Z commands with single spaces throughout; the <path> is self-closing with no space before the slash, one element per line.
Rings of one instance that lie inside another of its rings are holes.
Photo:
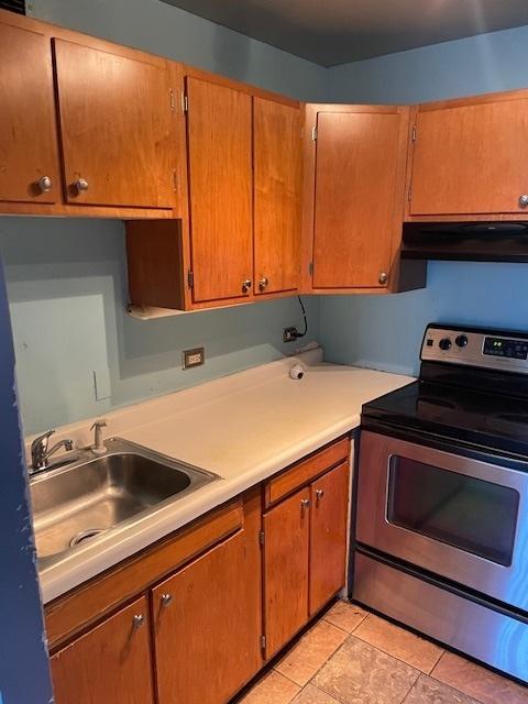
<path fill-rule="evenodd" d="M 398 628 L 374 614 L 370 614 L 354 630 L 354 636 L 427 674 L 431 672 L 443 652 L 442 648 L 429 640 L 419 638 L 405 628 Z"/>

